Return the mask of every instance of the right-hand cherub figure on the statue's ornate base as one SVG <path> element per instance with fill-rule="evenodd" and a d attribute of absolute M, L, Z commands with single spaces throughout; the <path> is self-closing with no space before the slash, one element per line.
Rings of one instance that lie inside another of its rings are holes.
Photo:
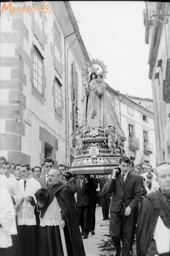
<path fill-rule="evenodd" d="M 115 132 L 115 127 L 114 126 L 109 126 L 104 129 L 104 132 L 108 135 L 108 147 L 111 151 L 110 155 L 116 152 L 116 146 L 120 144 L 120 139 Z"/>

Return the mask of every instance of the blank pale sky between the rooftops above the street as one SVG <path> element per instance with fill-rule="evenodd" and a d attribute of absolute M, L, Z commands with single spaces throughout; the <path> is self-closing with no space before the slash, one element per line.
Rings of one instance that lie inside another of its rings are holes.
<path fill-rule="evenodd" d="M 108 83 L 122 94 L 152 98 L 144 1 L 70 1 L 90 59 L 107 65 Z"/>

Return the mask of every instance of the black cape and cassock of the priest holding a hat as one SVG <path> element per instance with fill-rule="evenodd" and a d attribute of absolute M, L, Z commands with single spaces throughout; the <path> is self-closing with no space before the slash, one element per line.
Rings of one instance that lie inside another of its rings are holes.
<path fill-rule="evenodd" d="M 67 186 L 58 183 L 53 187 L 49 187 L 49 200 L 42 208 L 40 218 L 43 217 L 48 206 L 56 197 L 61 208 L 62 220 L 65 221 L 64 236 L 66 240 L 67 253 L 69 256 L 86 256 L 80 233 L 77 214 L 72 204 L 72 198 Z M 59 226 L 40 226 L 40 247 L 39 255 L 41 256 L 63 256 L 61 236 Z"/>

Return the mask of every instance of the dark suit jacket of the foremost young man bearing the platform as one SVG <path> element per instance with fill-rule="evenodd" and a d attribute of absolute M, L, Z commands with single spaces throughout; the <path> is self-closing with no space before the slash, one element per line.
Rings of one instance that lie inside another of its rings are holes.
<path fill-rule="evenodd" d="M 105 191 L 106 193 L 112 192 L 110 212 L 119 212 L 122 205 L 124 210 L 127 206 L 134 210 L 142 200 L 141 179 L 131 172 L 128 173 L 124 184 L 121 173 L 116 175 L 115 179 L 110 178 Z"/>

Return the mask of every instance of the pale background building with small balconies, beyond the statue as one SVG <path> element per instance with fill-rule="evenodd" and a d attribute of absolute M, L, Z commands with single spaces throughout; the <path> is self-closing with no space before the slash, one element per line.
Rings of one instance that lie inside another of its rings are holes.
<path fill-rule="evenodd" d="M 107 93 L 118 114 L 121 127 L 125 133 L 125 153 L 131 160 L 144 156 L 143 166 L 156 166 L 156 144 L 154 113 L 142 106 L 144 98 L 128 96 L 115 91 L 107 85 Z M 141 102 L 138 104 L 132 98 Z M 150 103 L 151 104 L 151 103 Z M 149 107 L 150 108 L 150 107 Z"/>

